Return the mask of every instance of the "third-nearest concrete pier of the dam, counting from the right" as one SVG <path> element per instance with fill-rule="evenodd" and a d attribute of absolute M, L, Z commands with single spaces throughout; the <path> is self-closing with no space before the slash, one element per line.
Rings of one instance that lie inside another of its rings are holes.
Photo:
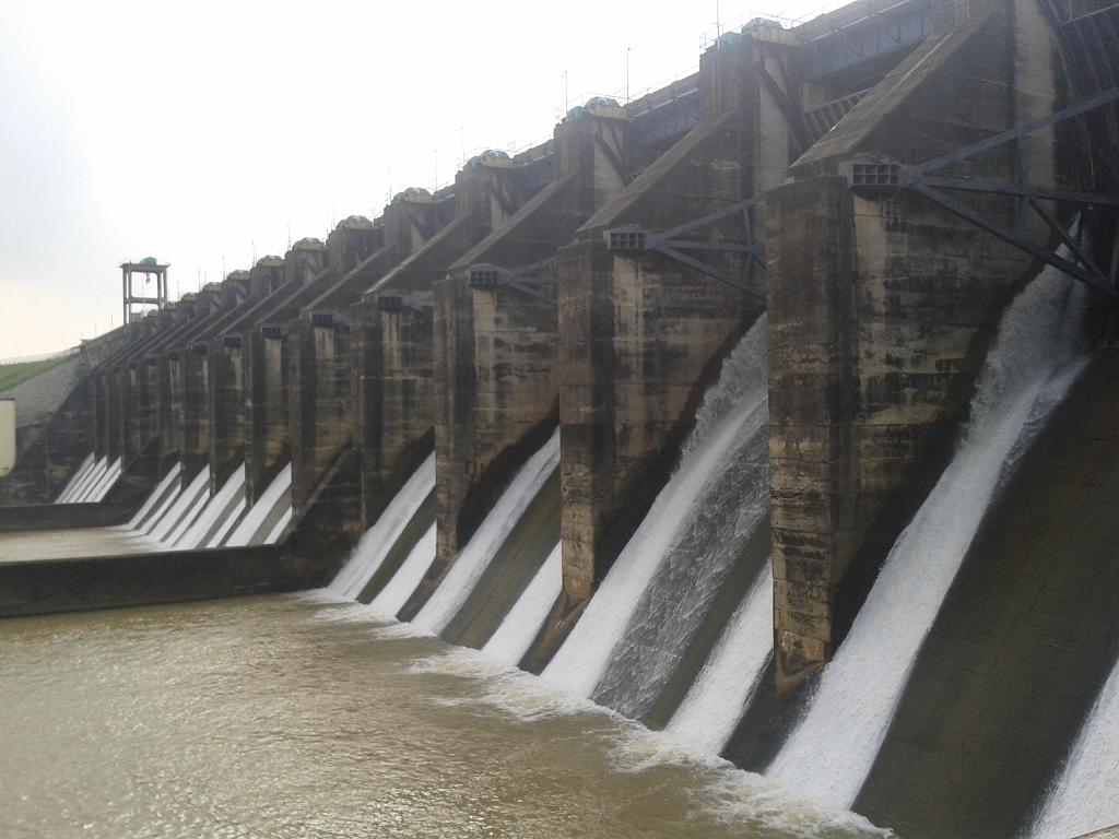
<path fill-rule="evenodd" d="M 438 565 L 558 423 L 556 252 L 624 187 L 626 122 L 613 102 L 574 110 L 547 186 L 435 285 Z"/>

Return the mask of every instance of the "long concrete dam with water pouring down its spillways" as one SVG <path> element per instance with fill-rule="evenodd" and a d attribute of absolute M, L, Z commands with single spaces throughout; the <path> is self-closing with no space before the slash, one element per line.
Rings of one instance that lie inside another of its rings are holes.
<path fill-rule="evenodd" d="M 1119 836 L 1117 161 L 1113 0 L 759 18 L 84 342 L 0 640 L 321 590 L 857 814 L 737 836 Z"/>

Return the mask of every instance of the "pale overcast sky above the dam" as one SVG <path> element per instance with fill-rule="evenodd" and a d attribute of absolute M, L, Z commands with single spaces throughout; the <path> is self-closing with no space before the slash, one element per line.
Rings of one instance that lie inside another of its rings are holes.
<path fill-rule="evenodd" d="M 686 75 L 715 21 L 715 0 L 4 0 L 0 358 L 119 326 L 125 258 L 169 262 L 176 298 L 282 255 L 463 152 L 547 139 L 565 85 L 570 106 L 623 97 L 627 48 L 634 96 Z"/>

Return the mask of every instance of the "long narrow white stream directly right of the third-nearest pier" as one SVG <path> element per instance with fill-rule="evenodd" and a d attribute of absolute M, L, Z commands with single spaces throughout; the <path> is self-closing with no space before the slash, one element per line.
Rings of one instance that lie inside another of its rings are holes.
<path fill-rule="evenodd" d="M 478 579 L 544 483 L 560 468 L 560 430 L 528 459 L 501 493 L 493 509 L 459 552 L 454 563 L 412 625 L 438 635 L 466 603 Z"/>

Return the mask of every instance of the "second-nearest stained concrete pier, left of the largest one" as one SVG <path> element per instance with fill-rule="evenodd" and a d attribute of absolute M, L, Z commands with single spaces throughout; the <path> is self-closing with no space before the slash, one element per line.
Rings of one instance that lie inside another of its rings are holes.
<path fill-rule="evenodd" d="M 698 124 L 560 252 L 562 611 L 610 568 L 671 471 L 704 387 L 762 309 L 756 295 L 661 254 L 611 249 L 608 230 L 670 229 L 781 181 L 788 126 L 756 69 L 769 53 L 744 38 L 705 54 Z M 740 211 L 693 235 L 741 242 L 743 224 Z M 746 275 L 736 255 L 705 258 Z"/>

